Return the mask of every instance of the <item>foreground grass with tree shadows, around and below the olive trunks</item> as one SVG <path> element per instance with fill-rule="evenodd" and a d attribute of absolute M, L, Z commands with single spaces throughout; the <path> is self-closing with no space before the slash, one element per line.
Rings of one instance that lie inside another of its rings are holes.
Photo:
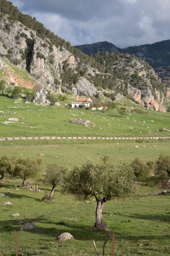
<path fill-rule="evenodd" d="M 55 202 L 40 202 L 43 192 L 26 188 L 15 190 L 6 182 L 0 185 L 0 202 L 10 201 L 11 206 L 0 206 L 0 250 L 2 255 L 15 255 L 15 233 L 18 235 L 19 255 L 58 255 L 56 237 L 59 232 L 70 232 L 74 240 L 60 244 L 60 255 L 96 255 L 93 239 L 102 255 L 102 246 L 108 237 L 105 255 L 111 255 L 112 232 L 115 233 L 115 255 L 161 255 L 170 253 L 170 195 L 156 196 L 160 189 L 139 187 L 133 197 L 107 202 L 103 210 L 104 222 L 109 231 L 85 230 L 94 225 L 96 203 L 76 201 L 72 196 L 54 193 Z M 3 188 L 2 188 L 3 187 Z M 12 217 L 19 213 L 20 216 Z M 23 223 L 34 223 L 36 229 L 20 231 Z"/>

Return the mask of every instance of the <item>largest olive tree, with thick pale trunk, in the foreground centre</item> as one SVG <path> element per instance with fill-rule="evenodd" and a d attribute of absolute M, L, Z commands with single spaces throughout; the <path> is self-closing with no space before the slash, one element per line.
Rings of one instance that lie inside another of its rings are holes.
<path fill-rule="evenodd" d="M 79 200 L 96 199 L 96 223 L 93 229 L 107 229 L 102 210 L 111 198 L 125 198 L 133 193 L 133 169 L 130 163 L 114 164 L 110 157 L 99 162 L 88 161 L 67 171 L 63 179 L 63 193 L 71 193 Z"/>

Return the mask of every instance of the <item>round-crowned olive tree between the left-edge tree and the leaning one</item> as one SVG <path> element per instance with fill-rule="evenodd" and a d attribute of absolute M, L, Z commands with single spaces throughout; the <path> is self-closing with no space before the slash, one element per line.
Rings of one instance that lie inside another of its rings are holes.
<path fill-rule="evenodd" d="M 37 175 L 40 169 L 41 162 L 41 159 L 17 159 L 15 168 L 12 173 L 12 177 L 14 179 L 23 179 L 23 182 L 19 187 L 28 187 L 26 179 L 35 177 Z"/>

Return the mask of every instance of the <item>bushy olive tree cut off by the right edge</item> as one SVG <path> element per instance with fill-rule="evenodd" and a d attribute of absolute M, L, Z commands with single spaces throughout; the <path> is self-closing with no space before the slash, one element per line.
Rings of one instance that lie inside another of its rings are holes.
<path fill-rule="evenodd" d="M 159 155 L 155 163 L 155 174 L 160 180 L 164 180 L 170 176 L 170 155 Z"/>

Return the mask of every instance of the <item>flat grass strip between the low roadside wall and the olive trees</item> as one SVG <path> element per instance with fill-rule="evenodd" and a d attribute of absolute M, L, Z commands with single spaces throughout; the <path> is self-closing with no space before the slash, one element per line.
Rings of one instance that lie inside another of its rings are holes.
<path fill-rule="evenodd" d="M 136 148 L 138 147 L 138 148 Z M 58 163 L 72 167 L 86 162 L 97 161 L 103 155 L 111 155 L 115 161 L 131 161 L 139 157 L 144 162 L 156 160 L 159 154 L 170 154 L 169 140 L 28 140 L 0 141 L 0 155 L 15 155 L 35 159 L 39 154 L 43 164 Z"/>

